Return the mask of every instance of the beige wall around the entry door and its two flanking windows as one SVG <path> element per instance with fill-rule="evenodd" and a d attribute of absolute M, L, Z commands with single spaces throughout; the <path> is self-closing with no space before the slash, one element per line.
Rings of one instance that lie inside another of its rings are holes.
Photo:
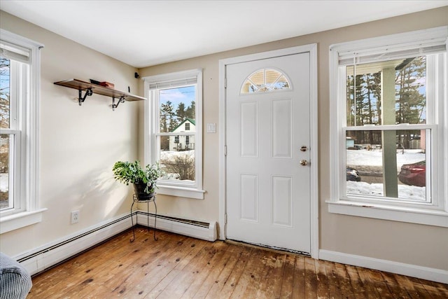
<path fill-rule="evenodd" d="M 329 214 L 325 200 L 330 198 L 329 157 L 329 82 L 328 48 L 333 43 L 366 39 L 374 36 L 409 32 L 448 25 L 448 7 L 431 11 L 403 15 L 377 22 L 344 27 L 293 39 L 265 43 L 258 46 L 231 50 L 224 53 L 197 57 L 181 62 L 172 62 L 140 69 L 141 77 L 165 74 L 187 69 L 204 69 L 204 123 L 217 123 L 218 106 L 218 61 L 267 50 L 318 43 L 318 144 L 319 144 L 319 227 L 320 248 L 359 256 L 368 256 L 400 263 L 448 270 L 448 229 L 430 225 L 416 225 L 395 221 L 383 221 L 355 216 Z M 143 85 L 140 85 L 143 92 Z M 141 105 L 142 106 L 142 105 Z M 143 106 L 142 106 L 143 107 Z M 142 116 L 143 111 L 140 111 Z M 140 127 L 144 125 L 140 118 Z M 217 130 L 222 130 L 217 127 Z M 142 132 L 143 130 L 140 130 Z M 218 132 L 204 132 L 204 200 L 184 198 L 158 198 L 159 211 L 187 218 L 218 221 Z M 143 135 L 139 141 L 143 140 Z M 143 156 L 143 144 L 139 143 L 139 156 Z"/>

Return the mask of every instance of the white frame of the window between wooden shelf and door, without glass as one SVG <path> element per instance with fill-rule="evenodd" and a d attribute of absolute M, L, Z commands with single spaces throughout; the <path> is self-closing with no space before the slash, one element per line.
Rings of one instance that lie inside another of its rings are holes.
<path fill-rule="evenodd" d="M 195 183 L 183 181 L 158 181 L 159 194 L 188 197 L 198 200 L 204 199 L 205 190 L 202 189 L 202 69 L 179 71 L 170 74 L 161 74 L 143 78 L 145 86 L 145 128 L 144 128 L 144 158 L 145 164 L 159 160 L 159 150 L 156 141 L 158 128 L 158 101 L 155 100 L 155 92 L 150 90 L 150 85 L 155 83 L 173 84 L 172 88 L 182 87 L 181 81 L 191 82 L 195 78 L 196 102 L 195 102 Z M 189 83 L 188 85 L 191 85 Z M 190 133 L 188 133 L 190 134 Z"/>

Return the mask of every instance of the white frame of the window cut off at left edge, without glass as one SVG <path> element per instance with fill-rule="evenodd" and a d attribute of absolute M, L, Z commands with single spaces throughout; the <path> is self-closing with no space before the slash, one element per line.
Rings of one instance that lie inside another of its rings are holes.
<path fill-rule="evenodd" d="M 19 75 L 22 87 L 11 86 L 11 92 L 19 90 L 22 95 L 25 95 L 15 103 L 17 109 L 15 109 L 14 117 L 17 118 L 17 125 L 14 130 L 1 129 L 2 134 L 14 134 L 15 136 L 15 145 L 13 146 L 15 165 L 12 167 L 12 171 L 15 173 L 12 186 L 15 204 L 14 209 L 0 213 L 0 234 L 2 234 L 41 222 L 42 212 L 46 209 L 39 208 L 38 190 L 38 132 L 41 102 L 40 49 L 43 48 L 43 45 L 3 29 L 0 29 L 0 39 L 2 42 L 8 43 L 8 46 L 25 49 L 29 53 L 25 57 L 25 63 L 29 65 L 27 74 Z M 14 57 L 11 60 L 15 60 Z M 17 60 L 20 60 L 20 57 Z"/>

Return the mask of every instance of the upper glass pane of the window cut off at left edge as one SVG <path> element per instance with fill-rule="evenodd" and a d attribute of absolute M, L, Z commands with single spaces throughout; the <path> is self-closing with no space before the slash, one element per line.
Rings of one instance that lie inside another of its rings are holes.
<path fill-rule="evenodd" d="M 0 127 L 9 128 L 10 60 L 0 57 Z"/>

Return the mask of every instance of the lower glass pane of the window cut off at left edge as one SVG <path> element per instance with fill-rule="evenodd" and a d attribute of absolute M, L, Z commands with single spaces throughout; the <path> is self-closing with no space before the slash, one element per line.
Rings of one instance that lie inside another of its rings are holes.
<path fill-rule="evenodd" d="M 0 135 L 0 209 L 10 208 L 10 135 Z"/>

